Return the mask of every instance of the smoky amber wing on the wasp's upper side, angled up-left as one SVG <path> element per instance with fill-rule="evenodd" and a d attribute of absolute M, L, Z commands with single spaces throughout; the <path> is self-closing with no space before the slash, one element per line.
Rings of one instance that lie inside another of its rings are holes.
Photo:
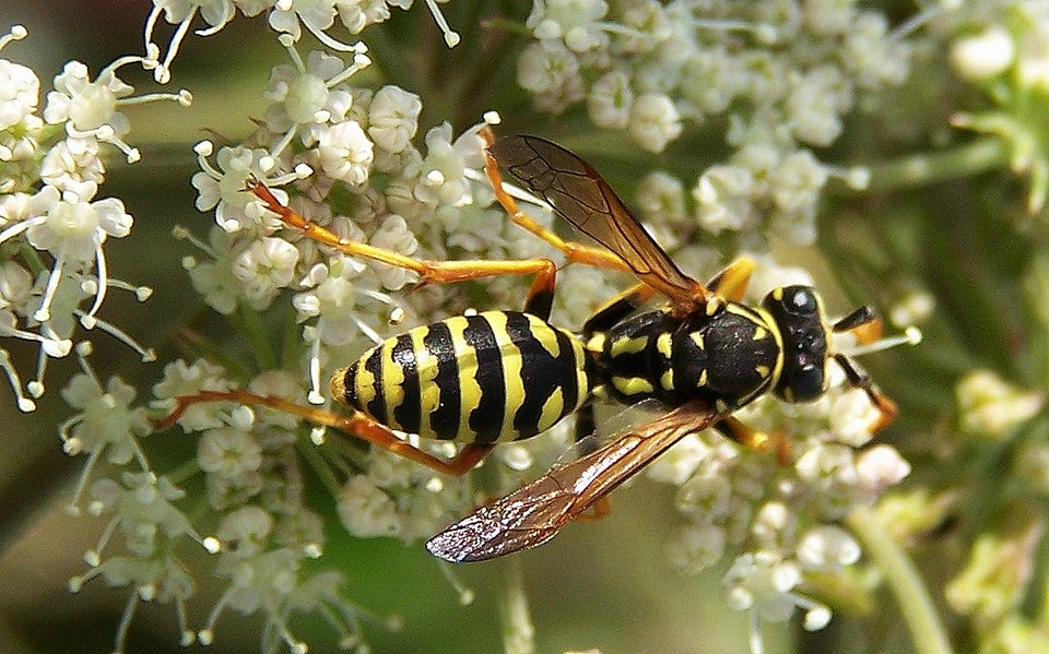
<path fill-rule="evenodd" d="M 677 304 L 706 297 L 706 288 L 674 265 L 590 164 L 538 136 L 505 136 L 488 152 L 577 229 L 615 252 L 639 280 Z"/>

